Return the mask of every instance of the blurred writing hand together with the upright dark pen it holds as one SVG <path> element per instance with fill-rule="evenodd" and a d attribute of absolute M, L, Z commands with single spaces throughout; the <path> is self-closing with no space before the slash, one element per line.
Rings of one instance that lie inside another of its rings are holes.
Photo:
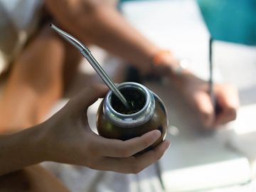
<path fill-rule="evenodd" d="M 191 73 L 188 68 L 171 73 L 170 81 L 188 105 L 191 105 L 198 114 L 201 124 L 208 129 L 214 129 L 235 119 L 239 106 L 238 90 L 227 84 L 213 83 L 213 39 L 209 45 L 209 80 L 203 80 Z M 174 55 L 164 55 L 160 65 L 172 65 Z M 189 63 L 188 63 L 189 65 Z M 188 66 L 187 65 L 187 66 Z"/>

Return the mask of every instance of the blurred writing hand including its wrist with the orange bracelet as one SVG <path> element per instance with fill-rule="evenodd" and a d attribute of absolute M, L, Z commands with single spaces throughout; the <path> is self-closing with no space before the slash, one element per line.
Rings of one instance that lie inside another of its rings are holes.
<path fill-rule="evenodd" d="M 197 110 L 201 123 L 205 127 L 216 127 L 233 121 L 239 106 L 238 90 L 230 85 L 215 84 L 215 102 L 209 95 L 209 85 L 205 80 L 197 78 L 188 70 L 177 73 L 178 60 L 172 53 L 160 55 L 159 64 L 154 65 L 156 75 L 168 76 L 176 88 L 181 91 L 185 100 Z"/>

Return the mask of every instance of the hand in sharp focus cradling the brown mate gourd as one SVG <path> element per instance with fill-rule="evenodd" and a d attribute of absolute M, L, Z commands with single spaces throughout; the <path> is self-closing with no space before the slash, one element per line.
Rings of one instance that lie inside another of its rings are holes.
<path fill-rule="evenodd" d="M 106 94 L 107 87 L 87 87 L 57 114 L 44 123 L 43 149 L 45 161 L 88 166 L 91 169 L 138 173 L 156 162 L 170 142 L 164 141 L 144 154 L 160 137 L 158 130 L 127 141 L 106 139 L 92 132 L 87 122 L 87 108 Z"/>

